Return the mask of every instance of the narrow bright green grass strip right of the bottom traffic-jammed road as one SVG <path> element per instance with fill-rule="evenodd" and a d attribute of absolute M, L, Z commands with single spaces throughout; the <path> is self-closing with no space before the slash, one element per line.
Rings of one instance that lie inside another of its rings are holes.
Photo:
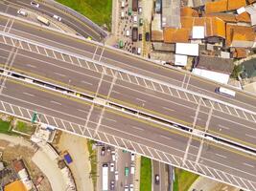
<path fill-rule="evenodd" d="M 151 191 L 151 159 L 141 157 L 140 190 Z"/>

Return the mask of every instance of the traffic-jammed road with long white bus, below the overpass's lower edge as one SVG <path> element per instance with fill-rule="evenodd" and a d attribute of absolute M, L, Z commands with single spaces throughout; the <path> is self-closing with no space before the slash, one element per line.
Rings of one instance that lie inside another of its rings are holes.
<path fill-rule="evenodd" d="M 133 191 L 134 154 L 98 144 L 99 190 Z"/>

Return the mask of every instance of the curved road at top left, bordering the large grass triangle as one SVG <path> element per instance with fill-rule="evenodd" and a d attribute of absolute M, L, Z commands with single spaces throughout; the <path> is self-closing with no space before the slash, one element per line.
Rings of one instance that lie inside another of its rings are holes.
<path fill-rule="evenodd" d="M 13 16 L 17 15 L 17 11 L 19 9 L 25 9 L 30 11 L 36 11 L 43 14 L 46 14 L 50 17 L 53 15 L 58 15 L 61 17 L 61 23 L 65 24 L 66 26 L 70 27 L 71 29 L 78 32 L 81 36 L 88 37 L 90 36 L 93 40 L 101 42 L 104 40 L 105 36 L 103 35 L 105 32 L 101 29 L 95 29 L 96 24 L 86 24 L 81 19 L 78 18 L 78 16 L 74 16 L 68 11 L 65 11 L 66 9 L 58 9 L 60 8 L 60 4 L 58 3 L 52 3 L 49 4 L 47 2 L 40 3 L 39 8 L 35 8 L 30 5 L 31 0 L 23 0 L 23 1 L 17 1 L 17 0 L 1 0 L 0 1 L 0 11 L 12 14 Z M 57 5 L 54 6 L 55 4 Z M 106 33 L 105 33 L 106 34 Z"/>

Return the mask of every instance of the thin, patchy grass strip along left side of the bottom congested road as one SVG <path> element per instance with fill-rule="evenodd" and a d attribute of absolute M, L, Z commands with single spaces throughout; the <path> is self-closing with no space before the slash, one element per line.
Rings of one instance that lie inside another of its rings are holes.
<path fill-rule="evenodd" d="M 89 151 L 89 158 L 90 158 L 90 163 L 91 163 L 91 178 L 92 178 L 92 183 L 93 183 L 93 189 L 96 189 L 97 185 L 97 149 L 93 149 L 93 145 L 95 144 L 94 140 L 89 140 L 87 139 L 87 147 Z"/>

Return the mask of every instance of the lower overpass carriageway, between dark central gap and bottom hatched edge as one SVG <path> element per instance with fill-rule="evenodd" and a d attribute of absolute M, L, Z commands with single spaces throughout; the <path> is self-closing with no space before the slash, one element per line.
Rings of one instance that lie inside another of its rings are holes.
<path fill-rule="evenodd" d="M 51 91 L 40 90 L 34 86 L 28 86 L 28 84 L 17 83 L 15 80 L 9 78 L 6 80 L 5 87 L 0 96 L 2 101 L 37 111 L 40 114 L 56 117 L 58 118 L 55 119 L 57 123 L 59 123 L 60 118 L 71 123 L 80 124 L 82 127 L 86 124 L 86 116 L 90 110 L 89 103 L 69 96 L 52 93 Z M 22 112 L 24 111 L 23 109 L 20 111 L 17 107 L 10 108 L 10 105 L 3 104 L 0 109 L 24 113 Z M 95 133 L 97 130 L 97 134 L 101 135 L 95 138 L 103 139 L 105 135 L 105 141 L 108 140 L 112 144 L 118 144 L 119 146 L 136 150 L 143 155 L 151 156 L 155 159 L 159 159 L 161 155 L 161 159 L 169 159 L 170 161 L 171 158 L 168 156 L 174 154 L 176 156 L 175 159 L 173 158 L 174 165 L 180 165 L 180 158 L 183 158 L 187 148 L 188 135 L 180 134 L 178 131 L 168 128 L 155 126 L 137 117 L 115 114 L 114 111 L 108 109 L 105 110 L 101 124 L 98 126 L 99 114 L 101 114 L 101 108 L 94 107 L 87 123 L 87 127 L 90 128 L 91 133 Z M 43 117 L 41 121 L 46 123 Z M 55 126 L 72 131 L 72 128 L 65 121 L 62 122 L 62 125 Z M 51 122 L 48 118 L 48 123 Z M 125 139 L 128 141 L 125 141 Z M 186 168 L 194 168 L 195 164 L 193 162 L 197 161 L 199 145 L 198 138 L 193 138 L 187 151 Z M 204 140 L 202 145 L 198 159 L 198 165 L 203 166 L 200 171 L 210 172 L 214 169 L 212 173 L 215 173 L 216 176 L 221 177 L 220 172 L 225 172 L 234 179 L 235 176 L 239 176 L 243 178 L 244 182 L 245 180 L 255 182 L 256 160 L 254 157 L 223 145 L 209 142 L 208 140 Z"/>

